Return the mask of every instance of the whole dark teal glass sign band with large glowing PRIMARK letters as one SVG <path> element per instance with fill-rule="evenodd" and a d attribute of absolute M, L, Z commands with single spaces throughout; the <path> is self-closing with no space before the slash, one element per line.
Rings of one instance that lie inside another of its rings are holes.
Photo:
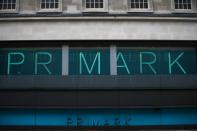
<path fill-rule="evenodd" d="M 116 57 L 110 53 L 107 47 L 71 47 L 66 53 L 61 48 L 5 48 L 0 49 L 0 75 L 61 75 L 62 63 L 68 75 L 110 75 L 112 67 L 117 75 L 197 73 L 195 48 L 118 47 Z"/>

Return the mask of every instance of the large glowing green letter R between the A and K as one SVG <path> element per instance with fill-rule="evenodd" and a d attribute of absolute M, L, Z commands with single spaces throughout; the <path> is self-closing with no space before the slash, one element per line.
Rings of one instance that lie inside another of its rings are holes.
<path fill-rule="evenodd" d="M 149 62 L 143 61 L 143 54 L 151 55 L 153 56 L 153 60 Z M 153 71 L 154 74 L 157 74 L 155 69 L 153 68 L 152 64 L 154 64 L 157 61 L 156 55 L 153 52 L 140 52 L 140 73 L 143 74 L 143 65 L 148 65 L 150 69 Z"/>

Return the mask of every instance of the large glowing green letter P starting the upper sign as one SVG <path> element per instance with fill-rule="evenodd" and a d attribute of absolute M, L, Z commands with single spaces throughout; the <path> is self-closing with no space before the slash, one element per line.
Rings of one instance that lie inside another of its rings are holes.
<path fill-rule="evenodd" d="M 11 62 L 11 55 L 19 55 L 19 56 L 21 56 L 22 60 L 18 61 L 18 62 Z M 21 64 L 23 64 L 24 61 L 25 61 L 25 56 L 24 56 L 23 53 L 21 53 L 21 52 L 8 53 L 8 70 L 7 70 L 7 74 L 8 75 L 10 74 L 10 66 L 11 65 L 21 65 Z"/>

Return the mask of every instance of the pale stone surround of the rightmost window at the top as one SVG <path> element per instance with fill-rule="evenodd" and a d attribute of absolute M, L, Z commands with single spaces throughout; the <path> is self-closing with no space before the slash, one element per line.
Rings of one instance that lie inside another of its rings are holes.
<path fill-rule="evenodd" d="M 175 9 L 175 0 L 171 0 L 171 10 L 173 13 L 194 13 L 196 0 L 191 0 L 191 9 Z"/>

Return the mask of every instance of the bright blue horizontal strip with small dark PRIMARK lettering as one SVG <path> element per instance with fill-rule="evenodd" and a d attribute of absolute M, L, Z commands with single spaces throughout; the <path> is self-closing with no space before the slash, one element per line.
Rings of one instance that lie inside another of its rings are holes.
<path fill-rule="evenodd" d="M 0 126 L 197 125 L 197 108 L 0 109 Z"/>

